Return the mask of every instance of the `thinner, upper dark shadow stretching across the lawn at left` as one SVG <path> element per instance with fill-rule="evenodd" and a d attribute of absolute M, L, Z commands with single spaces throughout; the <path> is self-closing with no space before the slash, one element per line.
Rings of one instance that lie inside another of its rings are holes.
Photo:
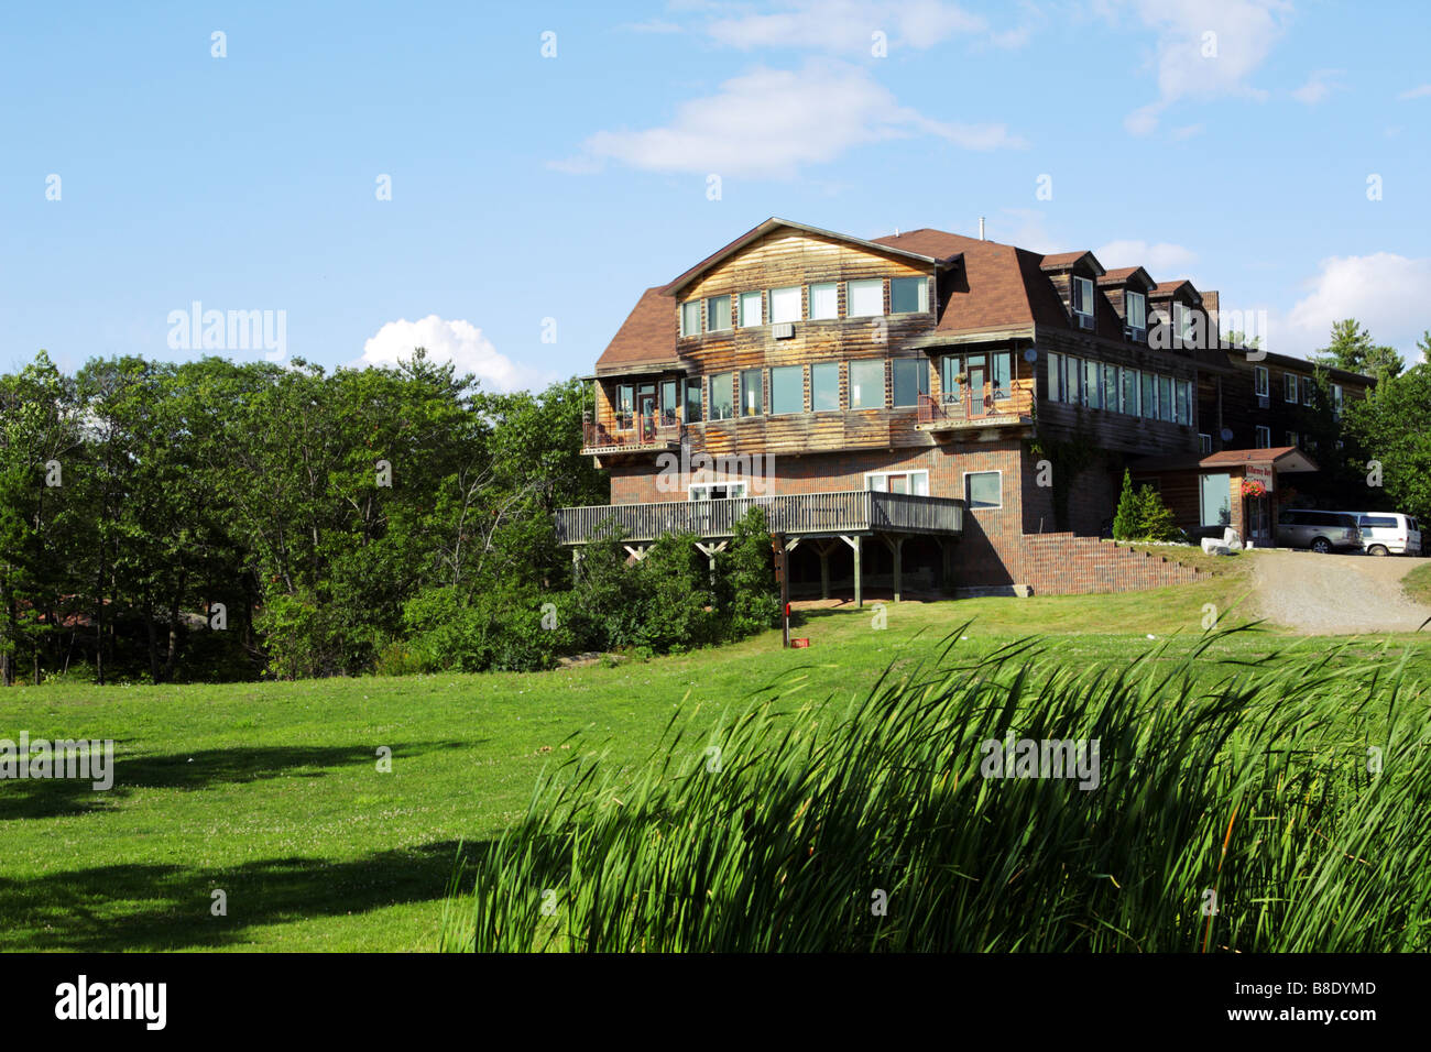
<path fill-rule="evenodd" d="M 392 744 L 392 759 L 412 759 L 441 749 L 472 749 L 485 739 Z M 92 779 L 0 780 L 0 822 L 53 819 L 114 810 L 135 789 L 200 790 L 279 777 L 326 777 L 329 769 L 376 764 L 372 746 L 258 746 L 196 753 L 114 757 L 114 784 L 96 790 Z M 3 916 L 3 913 L 0 913 Z"/>

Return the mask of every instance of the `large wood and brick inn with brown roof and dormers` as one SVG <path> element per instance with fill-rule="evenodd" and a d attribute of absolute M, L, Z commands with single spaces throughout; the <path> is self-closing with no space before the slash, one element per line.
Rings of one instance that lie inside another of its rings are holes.
<path fill-rule="evenodd" d="M 640 554 L 688 531 L 714 558 L 760 504 L 793 584 L 826 594 L 1186 580 L 1098 542 L 1123 468 L 1181 478 L 1199 457 L 1282 445 L 1294 418 L 1242 388 L 1312 376 L 1216 333 L 1216 293 L 1090 252 L 770 219 L 647 289 L 597 361 L 584 451 L 611 505 L 562 510 L 558 534 L 580 545 L 614 521 Z M 1338 398 L 1368 382 L 1339 375 Z M 1215 525 L 1201 502 L 1175 511 Z"/>

